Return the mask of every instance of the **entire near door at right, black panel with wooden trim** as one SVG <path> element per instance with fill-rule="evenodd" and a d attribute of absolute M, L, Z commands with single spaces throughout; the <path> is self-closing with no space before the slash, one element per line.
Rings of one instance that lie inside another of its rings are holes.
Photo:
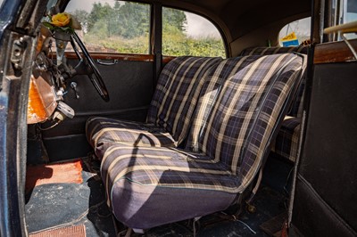
<path fill-rule="evenodd" d="M 342 36 L 341 29 L 351 29 L 346 24 L 322 35 L 323 29 L 341 23 L 355 28 L 356 10 L 357 1 L 314 3 L 314 52 L 291 206 L 292 236 L 357 235 L 357 39 Z"/>

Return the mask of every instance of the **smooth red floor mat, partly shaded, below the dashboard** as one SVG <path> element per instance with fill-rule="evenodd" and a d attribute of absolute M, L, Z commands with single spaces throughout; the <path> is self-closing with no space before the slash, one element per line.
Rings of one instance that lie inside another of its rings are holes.
<path fill-rule="evenodd" d="M 53 165 L 28 166 L 26 172 L 26 192 L 41 184 L 81 184 L 82 182 L 82 165 L 80 160 Z"/>

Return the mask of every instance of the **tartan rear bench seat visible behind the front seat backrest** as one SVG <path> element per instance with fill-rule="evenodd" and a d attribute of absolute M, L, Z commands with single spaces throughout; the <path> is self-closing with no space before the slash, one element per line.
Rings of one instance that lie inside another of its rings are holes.
<path fill-rule="evenodd" d="M 308 46 L 300 45 L 295 47 L 252 47 L 245 49 L 241 55 L 270 55 L 275 53 L 303 53 L 307 54 Z M 300 124 L 303 113 L 303 90 L 305 80 L 303 78 L 292 104 L 291 110 L 287 113 L 277 139 L 272 145 L 271 151 L 279 157 L 295 162 L 300 137 Z"/>

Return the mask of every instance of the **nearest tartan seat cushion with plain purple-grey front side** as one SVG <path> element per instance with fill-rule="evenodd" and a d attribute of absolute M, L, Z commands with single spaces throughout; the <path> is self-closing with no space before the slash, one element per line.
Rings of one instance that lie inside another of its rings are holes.
<path fill-rule="evenodd" d="M 105 152 L 101 174 L 114 216 L 140 229 L 228 208 L 239 186 L 220 163 L 164 147 L 116 144 Z"/>

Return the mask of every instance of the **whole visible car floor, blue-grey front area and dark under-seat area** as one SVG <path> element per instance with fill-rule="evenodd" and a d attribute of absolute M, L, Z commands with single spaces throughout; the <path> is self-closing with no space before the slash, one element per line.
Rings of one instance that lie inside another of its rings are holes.
<path fill-rule="evenodd" d="M 27 192 L 25 211 L 29 233 L 85 225 L 87 236 L 126 234 L 123 225 L 115 221 L 106 205 L 104 185 L 97 175 L 99 162 L 90 158 L 80 160 L 80 184 L 40 184 Z M 284 189 L 292 165 L 283 161 L 274 157 L 268 159 L 262 185 L 253 199 L 254 213 L 244 208 L 236 221 L 217 215 L 202 217 L 195 225 L 195 236 L 270 236 L 262 231 L 260 225 L 286 213 Z M 192 220 L 162 225 L 146 231 L 145 236 L 194 236 L 193 226 Z"/>

